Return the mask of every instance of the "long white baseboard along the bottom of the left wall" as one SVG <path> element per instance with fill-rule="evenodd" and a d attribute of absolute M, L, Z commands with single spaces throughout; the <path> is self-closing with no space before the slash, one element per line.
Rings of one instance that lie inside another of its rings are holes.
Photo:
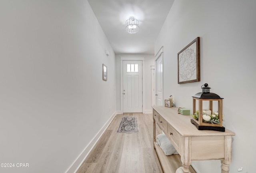
<path fill-rule="evenodd" d="M 100 131 L 95 135 L 95 137 L 90 141 L 90 143 L 85 147 L 84 151 L 77 157 L 77 159 L 72 163 L 72 165 L 68 168 L 66 173 L 76 173 L 76 171 L 79 169 L 79 167 L 82 165 L 94 145 L 97 143 L 97 141 L 100 139 L 104 131 L 107 129 L 108 125 L 111 123 L 111 121 L 116 116 L 116 112 L 111 115 L 110 119 L 104 124 L 104 126 L 100 129 Z"/>

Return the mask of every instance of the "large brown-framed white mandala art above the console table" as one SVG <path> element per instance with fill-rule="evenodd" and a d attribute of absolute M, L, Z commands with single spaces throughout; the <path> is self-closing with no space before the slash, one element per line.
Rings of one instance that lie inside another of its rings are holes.
<path fill-rule="evenodd" d="M 178 53 L 178 84 L 200 81 L 200 37 Z"/>

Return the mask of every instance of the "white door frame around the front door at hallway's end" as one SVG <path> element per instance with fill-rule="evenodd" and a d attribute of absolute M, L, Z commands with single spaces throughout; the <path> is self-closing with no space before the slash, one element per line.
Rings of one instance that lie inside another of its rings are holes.
<path fill-rule="evenodd" d="M 121 113 L 124 113 L 123 110 L 123 61 L 142 61 L 142 113 L 146 113 L 145 111 L 145 102 L 144 100 L 146 100 L 145 98 L 145 94 L 143 93 L 143 91 L 145 90 L 145 57 L 131 57 L 131 56 L 120 56 L 120 102 L 121 102 Z"/>

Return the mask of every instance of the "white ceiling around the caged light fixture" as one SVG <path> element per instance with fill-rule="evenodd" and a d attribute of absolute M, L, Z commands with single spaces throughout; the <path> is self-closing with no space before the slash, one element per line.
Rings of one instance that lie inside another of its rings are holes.
<path fill-rule="evenodd" d="M 154 54 L 154 42 L 174 0 L 88 0 L 116 54 Z M 139 31 L 129 34 L 125 21 L 134 16 Z"/>

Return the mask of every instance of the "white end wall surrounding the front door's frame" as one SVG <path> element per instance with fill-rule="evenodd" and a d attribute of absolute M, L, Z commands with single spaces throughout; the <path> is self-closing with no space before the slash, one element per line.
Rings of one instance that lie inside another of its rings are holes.
<path fill-rule="evenodd" d="M 151 107 L 151 68 L 150 66 L 154 66 L 154 55 L 151 54 L 116 54 L 116 112 L 121 113 L 121 100 L 120 100 L 120 57 L 145 57 L 144 60 L 144 74 L 145 80 L 144 84 L 146 85 L 144 88 L 146 91 L 143 91 L 143 95 L 145 94 L 145 99 L 143 102 L 145 103 L 145 112 L 152 112 Z"/>

